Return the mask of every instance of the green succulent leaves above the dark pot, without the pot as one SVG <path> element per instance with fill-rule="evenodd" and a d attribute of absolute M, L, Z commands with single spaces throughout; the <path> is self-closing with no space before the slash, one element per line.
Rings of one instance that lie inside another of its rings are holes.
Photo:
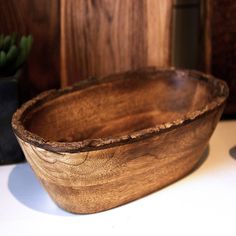
<path fill-rule="evenodd" d="M 31 35 L 0 35 L 0 76 L 11 76 L 25 63 L 32 46 Z"/>

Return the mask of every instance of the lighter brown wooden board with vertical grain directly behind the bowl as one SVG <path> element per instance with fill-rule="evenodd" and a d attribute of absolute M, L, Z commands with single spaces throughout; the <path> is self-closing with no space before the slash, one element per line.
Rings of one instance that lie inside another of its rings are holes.
<path fill-rule="evenodd" d="M 170 65 L 172 0 L 61 0 L 62 86 Z"/>

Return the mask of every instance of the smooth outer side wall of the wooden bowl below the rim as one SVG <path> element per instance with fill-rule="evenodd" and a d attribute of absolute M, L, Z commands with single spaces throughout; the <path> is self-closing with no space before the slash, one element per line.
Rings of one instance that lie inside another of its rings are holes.
<path fill-rule="evenodd" d="M 132 143 L 59 153 L 18 137 L 35 174 L 63 209 L 94 213 L 128 203 L 182 178 L 201 161 L 223 107 Z"/>

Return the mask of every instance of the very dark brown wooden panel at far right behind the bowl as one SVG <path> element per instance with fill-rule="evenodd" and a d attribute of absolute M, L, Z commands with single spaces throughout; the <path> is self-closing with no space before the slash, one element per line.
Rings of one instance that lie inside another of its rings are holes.
<path fill-rule="evenodd" d="M 226 115 L 236 116 L 236 1 L 212 0 L 209 6 L 211 21 L 211 73 L 224 79 L 230 89 Z"/>

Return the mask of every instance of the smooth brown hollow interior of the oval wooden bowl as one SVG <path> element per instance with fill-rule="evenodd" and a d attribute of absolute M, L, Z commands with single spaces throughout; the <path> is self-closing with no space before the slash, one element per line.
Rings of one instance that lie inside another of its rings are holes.
<path fill-rule="evenodd" d="M 23 125 L 57 142 L 116 137 L 184 119 L 213 101 L 214 89 L 184 72 L 119 75 L 41 102 Z"/>

